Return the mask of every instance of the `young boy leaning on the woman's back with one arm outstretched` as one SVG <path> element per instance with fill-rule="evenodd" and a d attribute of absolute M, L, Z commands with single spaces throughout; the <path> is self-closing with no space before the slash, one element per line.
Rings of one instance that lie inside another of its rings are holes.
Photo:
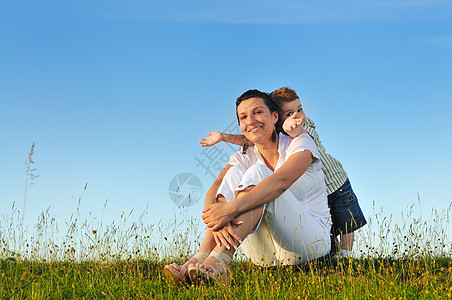
<path fill-rule="evenodd" d="M 328 205 L 333 221 L 333 234 L 335 237 L 340 235 L 340 250 L 336 257 L 347 257 L 353 247 L 354 231 L 367 224 L 347 173 L 341 163 L 326 152 L 315 131 L 314 122 L 306 118 L 303 112 L 297 93 L 291 88 L 283 87 L 273 91 L 270 96 L 280 108 L 279 122 L 282 124 L 283 130 L 292 138 L 295 138 L 304 127 L 317 145 L 325 174 Z M 221 141 L 237 145 L 249 143 L 243 135 L 221 132 L 209 132 L 208 134 L 209 137 L 201 140 L 202 147 L 212 146 Z"/>

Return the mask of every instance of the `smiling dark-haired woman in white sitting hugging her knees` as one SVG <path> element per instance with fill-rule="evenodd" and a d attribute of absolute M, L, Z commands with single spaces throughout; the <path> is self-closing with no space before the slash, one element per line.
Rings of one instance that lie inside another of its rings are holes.
<path fill-rule="evenodd" d="M 229 284 L 229 262 L 242 240 L 247 257 L 265 266 L 297 264 L 330 251 L 326 188 L 311 137 L 278 135 L 278 111 L 266 93 L 249 90 L 236 108 L 240 129 L 254 146 L 246 155 L 235 153 L 220 174 L 221 185 L 217 180 L 207 193 L 218 190 L 216 203 L 203 210 L 208 230 L 198 253 L 183 266 L 165 266 L 177 282 L 188 274 L 192 281 Z"/>

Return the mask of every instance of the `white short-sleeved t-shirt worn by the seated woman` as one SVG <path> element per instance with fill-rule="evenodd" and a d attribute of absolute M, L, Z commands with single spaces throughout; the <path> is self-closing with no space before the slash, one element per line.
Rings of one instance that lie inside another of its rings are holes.
<path fill-rule="evenodd" d="M 292 139 L 291 137 L 279 134 L 278 153 L 279 160 L 276 164 L 275 172 L 289 159 L 289 157 L 297 152 L 309 150 L 315 161 L 308 169 L 289 187 L 289 191 L 298 199 L 300 204 L 304 206 L 310 213 L 317 215 L 323 221 L 330 220 L 328 208 L 326 185 L 324 174 L 322 171 L 322 163 L 320 162 L 320 154 L 309 134 L 301 134 Z M 250 146 L 246 154 L 241 151 L 235 152 L 230 160 L 230 165 L 238 165 L 248 169 L 254 164 L 265 165 L 264 159 L 255 146 Z"/>

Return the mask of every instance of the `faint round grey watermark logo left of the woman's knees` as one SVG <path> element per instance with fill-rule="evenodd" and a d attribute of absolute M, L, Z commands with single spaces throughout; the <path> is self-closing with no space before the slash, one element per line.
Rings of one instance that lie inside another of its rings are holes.
<path fill-rule="evenodd" d="M 188 207 L 201 199 L 203 187 L 201 180 L 192 173 L 180 173 L 175 176 L 168 187 L 171 201 L 178 206 Z"/>

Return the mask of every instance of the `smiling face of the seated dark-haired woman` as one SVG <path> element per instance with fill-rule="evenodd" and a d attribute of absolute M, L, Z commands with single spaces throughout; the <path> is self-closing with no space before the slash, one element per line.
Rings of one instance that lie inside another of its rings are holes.
<path fill-rule="evenodd" d="M 278 113 L 270 112 L 261 98 L 249 98 L 237 107 L 240 129 L 245 137 L 253 143 L 271 140 Z"/>

